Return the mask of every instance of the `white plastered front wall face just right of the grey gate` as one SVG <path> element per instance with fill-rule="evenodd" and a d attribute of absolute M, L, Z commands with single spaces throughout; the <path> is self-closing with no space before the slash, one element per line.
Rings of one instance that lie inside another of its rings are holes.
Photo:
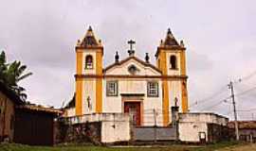
<path fill-rule="evenodd" d="M 205 132 L 208 141 L 207 131 L 207 123 L 179 122 L 178 124 L 179 139 L 182 142 L 199 142 L 199 132 Z"/>

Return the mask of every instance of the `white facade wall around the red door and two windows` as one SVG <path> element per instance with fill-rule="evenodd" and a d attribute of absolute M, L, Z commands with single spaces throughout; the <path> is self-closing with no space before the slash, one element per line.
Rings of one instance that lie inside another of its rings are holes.
<path fill-rule="evenodd" d="M 106 96 L 106 81 L 118 80 L 119 81 L 119 95 L 118 96 Z M 158 97 L 147 97 L 147 81 L 158 81 Z M 143 93 L 143 120 L 141 121 L 143 126 L 154 125 L 154 113 L 153 109 L 158 112 L 156 116 L 156 122 L 158 126 L 162 126 L 162 88 L 160 79 L 124 79 L 124 78 L 107 78 L 103 82 L 103 112 L 123 112 L 122 100 L 120 93 Z"/>

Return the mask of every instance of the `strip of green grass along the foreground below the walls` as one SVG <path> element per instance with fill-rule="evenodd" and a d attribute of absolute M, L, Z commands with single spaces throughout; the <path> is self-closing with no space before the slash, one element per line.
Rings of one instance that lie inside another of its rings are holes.
<path fill-rule="evenodd" d="M 88 145 L 68 145 L 68 146 L 28 146 L 22 144 L 0 144 L 0 151 L 213 151 L 232 147 L 237 143 L 216 143 L 205 146 L 197 145 L 154 145 L 154 146 L 88 146 Z M 226 151 L 226 150 L 225 150 Z"/>

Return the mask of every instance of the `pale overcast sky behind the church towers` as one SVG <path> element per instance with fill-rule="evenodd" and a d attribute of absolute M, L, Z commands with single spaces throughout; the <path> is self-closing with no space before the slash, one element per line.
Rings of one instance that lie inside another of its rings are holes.
<path fill-rule="evenodd" d="M 255 6 L 254 0 L 0 0 L 0 49 L 33 73 L 21 83 L 28 100 L 59 108 L 73 95 L 75 45 L 89 25 L 104 45 L 104 66 L 116 51 L 127 57 L 129 39 L 137 42 L 139 58 L 149 52 L 155 63 L 171 27 L 187 47 L 191 110 L 232 117 L 230 99 L 222 101 L 229 80 L 245 77 L 236 93 L 256 86 L 250 76 L 256 71 Z M 256 90 L 236 101 L 240 119 L 256 119 Z"/>

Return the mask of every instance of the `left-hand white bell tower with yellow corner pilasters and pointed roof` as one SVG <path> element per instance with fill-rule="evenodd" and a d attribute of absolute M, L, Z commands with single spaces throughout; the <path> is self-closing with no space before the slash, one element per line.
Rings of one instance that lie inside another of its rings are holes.
<path fill-rule="evenodd" d="M 76 46 L 76 115 L 102 111 L 102 57 L 101 40 L 89 26 Z"/>

